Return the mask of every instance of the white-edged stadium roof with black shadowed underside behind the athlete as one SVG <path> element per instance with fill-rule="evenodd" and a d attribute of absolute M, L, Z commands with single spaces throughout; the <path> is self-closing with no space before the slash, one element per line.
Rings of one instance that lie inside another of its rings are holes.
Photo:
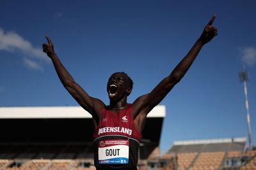
<path fill-rule="evenodd" d="M 165 106 L 147 116 L 142 132 L 140 157 L 145 159 L 159 145 Z M 83 143 L 92 148 L 92 116 L 80 106 L 0 107 L 0 146 Z M 69 145 L 69 144 L 68 144 Z"/>

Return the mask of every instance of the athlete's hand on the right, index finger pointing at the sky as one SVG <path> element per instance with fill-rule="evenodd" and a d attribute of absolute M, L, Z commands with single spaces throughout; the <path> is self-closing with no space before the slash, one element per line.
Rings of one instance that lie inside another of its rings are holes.
<path fill-rule="evenodd" d="M 212 38 L 214 38 L 214 36 L 217 36 L 218 34 L 218 29 L 216 27 L 212 27 L 212 22 L 214 21 L 215 18 L 216 14 L 212 16 L 211 20 L 205 26 L 204 31 L 199 38 L 203 44 L 208 43 L 209 41 L 211 41 Z"/>

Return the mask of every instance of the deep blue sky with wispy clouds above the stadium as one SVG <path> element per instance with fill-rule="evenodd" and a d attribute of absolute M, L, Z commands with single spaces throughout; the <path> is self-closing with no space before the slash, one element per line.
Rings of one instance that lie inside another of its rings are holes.
<path fill-rule="evenodd" d="M 128 101 L 147 94 L 186 55 L 214 13 L 218 36 L 161 102 L 161 151 L 173 141 L 247 137 L 243 65 L 256 143 L 256 1 L 1 1 L 0 106 L 77 106 L 51 60 L 47 34 L 63 65 L 90 96 L 108 104 L 116 71 L 134 81 Z"/>

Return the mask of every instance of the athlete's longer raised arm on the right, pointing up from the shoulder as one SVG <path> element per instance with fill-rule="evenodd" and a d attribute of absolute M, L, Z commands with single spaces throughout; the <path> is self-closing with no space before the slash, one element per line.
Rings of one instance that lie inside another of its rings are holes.
<path fill-rule="evenodd" d="M 164 78 L 154 88 L 154 90 L 152 90 L 152 92 L 141 96 L 134 101 L 132 104 L 134 117 L 136 117 L 138 114 L 144 115 L 145 117 L 145 115 L 147 115 L 150 110 L 159 104 L 168 94 L 168 92 L 170 92 L 170 90 L 172 90 L 173 87 L 182 79 L 202 47 L 217 35 L 217 28 L 212 27 L 212 22 L 214 21 L 215 17 L 216 15 L 213 15 L 209 23 L 205 26 L 200 38 L 198 38 L 188 54 L 179 62 L 175 69 L 173 69 L 172 73 Z"/>

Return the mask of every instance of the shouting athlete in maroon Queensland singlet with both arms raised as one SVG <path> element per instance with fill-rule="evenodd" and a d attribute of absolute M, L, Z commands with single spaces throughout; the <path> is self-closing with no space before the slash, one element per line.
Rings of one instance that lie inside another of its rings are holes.
<path fill-rule="evenodd" d="M 110 76 L 107 85 L 109 105 L 106 106 L 99 99 L 89 96 L 76 83 L 61 64 L 50 38 L 46 36 L 48 43 L 42 46 L 52 59 L 61 83 L 93 117 L 94 162 L 97 169 L 137 169 L 141 132 L 147 114 L 181 80 L 202 47 L 217 35 L 217 28 L 211 26 L 215 17 L 216 15 L 211 18 L 200 38 L 172 73 L 150 93 L 138 97 L 132 104 L 127 103 L 127 96 L 131 94 L 133 82 L 126 73 L 118 72 Z"/>

